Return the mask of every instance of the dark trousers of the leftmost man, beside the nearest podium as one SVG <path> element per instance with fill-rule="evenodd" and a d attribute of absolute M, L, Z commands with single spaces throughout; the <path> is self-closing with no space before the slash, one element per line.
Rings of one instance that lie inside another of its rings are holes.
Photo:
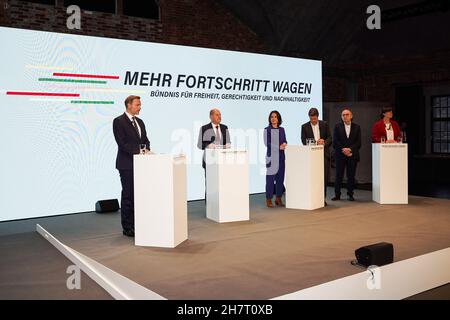
<path fill-rule="evenodd" d="M 120 212 L 123 230 L 134 230 L 134 181 L 133 170 L 119 170 L 122 183 Z"/>

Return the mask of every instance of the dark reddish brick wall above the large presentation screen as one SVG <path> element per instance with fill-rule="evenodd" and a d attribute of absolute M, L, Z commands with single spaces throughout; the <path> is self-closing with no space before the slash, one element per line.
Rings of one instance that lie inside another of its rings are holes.
<path fill-rule="evenodd" d="M 246 52 L 266 51 L 256 34 L 213 0 L 160 0 L 159 20 L 82 11 L 81 30 L 67 29 L 69 15 L 62 3 L 59 0 L 56 6 L 50 6 L 1 0 L 0 25 Z"/>

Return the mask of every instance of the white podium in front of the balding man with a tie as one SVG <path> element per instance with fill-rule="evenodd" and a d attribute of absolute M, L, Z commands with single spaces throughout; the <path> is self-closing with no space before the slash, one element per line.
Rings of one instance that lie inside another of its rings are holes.
<path fill-rule="evenodd" d="M 216 222 L 250 219 L 248 155 L 206 149 L 206 217 Z"/>

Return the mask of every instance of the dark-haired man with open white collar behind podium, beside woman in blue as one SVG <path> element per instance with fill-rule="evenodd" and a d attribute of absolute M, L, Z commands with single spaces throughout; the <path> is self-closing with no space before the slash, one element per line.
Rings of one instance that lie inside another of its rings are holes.
<path fill-rule="evenodd" d="M 324 147 L 324 187 L 325 198 L 327 196 L 327 184 L 330 176 L 330 147 L 331 147 L 331 133 L 330 127 L 326 121 L 319 120 L 319 110 L 311 108 L 308 111 L 309 122 L 302 125 L 302 143 L 306 145 L 306 139 L 314 139 L 318 145 Z M 325 201 L 325 205 L 327 202 Z"/>

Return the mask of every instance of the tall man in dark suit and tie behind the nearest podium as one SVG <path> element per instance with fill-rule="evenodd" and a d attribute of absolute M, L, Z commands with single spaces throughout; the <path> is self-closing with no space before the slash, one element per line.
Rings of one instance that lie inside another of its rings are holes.
<path fill-rule="evenodd" d="M 114 119 L 113 132 L 118 146 L 116 169 L 122 183 L 120 212 L 123 234 L 134 237 L 133 155 L 139 154 L 141 144 L 150 150 L 150 141 L 144 122 L 136 117 L 141 111 L 141 98 L 129 96 L 125 99 L 125 107 L 125 112 Z"/>

